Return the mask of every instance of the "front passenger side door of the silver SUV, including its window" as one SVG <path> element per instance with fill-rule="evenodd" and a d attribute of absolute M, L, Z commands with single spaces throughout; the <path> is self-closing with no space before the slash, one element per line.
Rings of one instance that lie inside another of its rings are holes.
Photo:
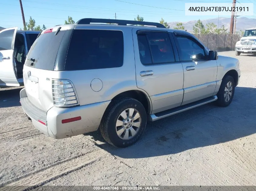
<path fill-rule="evenodd" d="M 182 105 L 212 96 L 216 87 L 216 60 L 208 59 L 208 51 L 194 37 L 182 33 L 173 36 L 184 68 Z"/>

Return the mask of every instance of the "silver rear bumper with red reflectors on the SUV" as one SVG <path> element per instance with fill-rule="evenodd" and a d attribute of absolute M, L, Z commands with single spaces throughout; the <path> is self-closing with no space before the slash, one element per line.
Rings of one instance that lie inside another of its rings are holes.
<path fill-rule="evenodd" d="M 96 131 L 110 103 L 110 101 L 106 101 L 69 108 L 52 107 L 47 112 L 44 112 L 28 100 L 25 88 L 21 90 L 20 97 L 22 109 L 31 118 L 33 125 L 45 135 L 53 138 L 66 138 Z M 81 119 L 77 121 L 70 123 L 63 123 L 62 121 L 63 119 L 79 116 Z"/>

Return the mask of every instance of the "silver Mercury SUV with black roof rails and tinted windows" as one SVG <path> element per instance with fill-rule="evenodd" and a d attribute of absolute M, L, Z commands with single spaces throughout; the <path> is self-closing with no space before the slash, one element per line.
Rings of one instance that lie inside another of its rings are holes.
<path fill-rule="evenodd" d="M 108 143 L 126 147 L 147 120 L 213 101 L 228 106 L 240 70 L 238 59 L 218 56 L 188 32 L 85 18 L 42 31 L 23 76 L 20 102 L 37 129 L 65 138 L 99 128 Z"/>

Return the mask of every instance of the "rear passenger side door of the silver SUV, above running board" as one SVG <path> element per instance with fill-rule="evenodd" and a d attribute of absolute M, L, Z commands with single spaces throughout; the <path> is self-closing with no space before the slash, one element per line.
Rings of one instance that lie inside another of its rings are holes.
<path fill-rule="evenodd" d="M 152 113 L 182 103 L 183 68 L 175 57 L 174 41 L 171 43 L 171 40 L 168 31 L 133 28 L 137 87 L 148 93 Z"/>

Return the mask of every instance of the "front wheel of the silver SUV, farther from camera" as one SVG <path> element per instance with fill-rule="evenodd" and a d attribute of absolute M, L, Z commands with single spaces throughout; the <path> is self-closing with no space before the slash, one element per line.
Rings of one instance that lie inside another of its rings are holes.
<path fill-rule="evenodd" d="M 230 83 L 231 83 L 231 86 L 230 86 Z M 231 88 L 228 87 L 228 86 L 230 86 Z M 227 95 L 228 97 L 224 96 L 224 94 L 226 94 L 226 93 L 229 94 L 229 95 Z M 230 95 L 230 93 L 231 93 L 231 95 Z M 235 93 L 234 78 L 232 76 L 224 77 L 222 82 L 221 82 L 221 86 L 220 86 L 220 89 L 218 91 L 218 94 L 217 94 L 218 99 L 216 101 L 216 104 L 220 107 L 229 106 L 229 104 L 233 100 L 234 93 Z"/>

